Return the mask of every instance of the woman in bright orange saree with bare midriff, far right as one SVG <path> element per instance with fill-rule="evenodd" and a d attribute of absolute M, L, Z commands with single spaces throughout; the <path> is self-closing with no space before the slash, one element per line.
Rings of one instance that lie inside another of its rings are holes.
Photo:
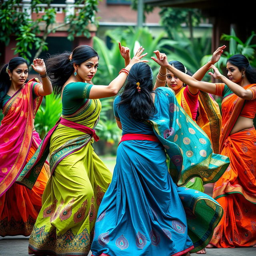
<path fill-rule="evenodd" d="M 230 158 L 230 166 L 215 183 L 213 198 L 223 207 L 224 216 L 214 230 L 210 246 L 248 247 L 256 244 L 256 70 L 243 55 L 227 61 L 228 78 L 215 66 L 214 78 L 224 84 L 199 82 L 166 66 L 182 81 L 199 90 L 224 97 L 220 154 Z M 209 247 L 210 247 L 209 246 Z"/>

